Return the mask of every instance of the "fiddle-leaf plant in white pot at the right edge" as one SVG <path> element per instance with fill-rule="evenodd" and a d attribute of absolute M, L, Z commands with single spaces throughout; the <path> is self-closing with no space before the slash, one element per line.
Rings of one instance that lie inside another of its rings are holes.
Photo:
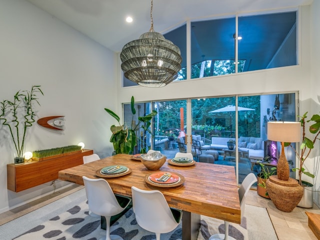
<path fill-rule="evenodd" d="M 308 172 L 304 167 L 304 161 L 309 156 L 311 150 L 313 149 L 314 143 L 317 139 L 319 139 L 320 134 L 320 115 L 313 114 L 309 120 L 307 120 L 307 112 L 303 114 L 301 117 L 301 127 L 302 127 L 302 141 L 300 144 L 300 153 L 295 150 L 295 148 L 291 145 L 289 142 L 285 142 L 284 146 L 290 146 L 296 156 L 299 159 L 299 167 L 292 168 L 293 171 L 298 171 L 298 181 L 301 186 L 304 187 L 304 194 L 302 196 L 301 201 L 299 202 L 298 206 L 301 207 L 312 207 L 313 205 L 313 184 L 307 181 L 302 181 L 301 176 L 302 174 L 305 174 L 309 177 L 314 177 L 314 175 L 310 172 Z M 309 133 L 312 136 L 312 138 L 308 138 L 306 136 L 306 129 L 305 125 L 306 122 L 310 122 L 311 125 L 309 126 Z"/>

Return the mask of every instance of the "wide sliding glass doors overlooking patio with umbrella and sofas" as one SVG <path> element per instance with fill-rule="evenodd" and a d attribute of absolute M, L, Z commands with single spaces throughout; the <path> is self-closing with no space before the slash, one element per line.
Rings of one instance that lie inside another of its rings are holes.
<path fill-rule="evenodd" d="M 295 97 L 295 93 L 279 93 L 136 103 L 139 116 L 149 113 L 151 106 L 158 112 L 152 121 L 153 138 L 146 135 L 137 143 L 136 152 L 141 145 L 167 158 L 190 152 L 199 162 L 234 166 L 241 183 L 248 173 L 259 173 L 259 162 L 276 165 L 281 147 L 267 139 L 267 122 L 295 121 Z M 126 123 L 132 120 L 129 107 L 124 104 Z M 229 139 L 235 141 L 233 146 L 227 143 Z M 294 168 L 293 150 L 286 147 L 285 155 L 290 169 Z M 294 172 L 290 174 L 294 177 Z"/>

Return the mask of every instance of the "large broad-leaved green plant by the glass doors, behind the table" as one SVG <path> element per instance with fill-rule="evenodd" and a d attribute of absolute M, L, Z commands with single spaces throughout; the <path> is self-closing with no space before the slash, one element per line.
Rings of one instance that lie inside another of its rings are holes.
<path fill-rule="evenodd" d="M 115 114 L 113 111 L 111 111 L 108 108 L 104 108 L 104 110 L 109 113 L 112 117 L 114 117 L 117 122 L 119 123 L 118 126 L 111 125 L 110 130 L 112 132 L 110 142 L 113 143 L 113 148 L 115 154 L 118 153 L 126 153 L 126 154 L 132 154 L 134 151 L 134 146 L 137 144 L 137 140 L 139 139 L 139 142 L 141 144 L 141 150 L 140 153 L 146 152 L 147 145 L 144 143 L 144 137 L 146 135 L 146 132 L 149 132 L 152 134 L 150 130 L 151 125 L 151 119 L 152 116 L 157 114 L 157 111 L 152 110 L 151 113 L 145 115 L 145 116 L 139 116 L 138 117 L 138 123 L 135 124 L 133 121 L 133 115 L 135 114 L 135 108 L 134 108 L 134 97 L 131 97 L 131 112 L 132 112 L 132 120 L 131 125 L 126 126 L 124 124 L 120 124 L 120 118 L 117 114 Z M 141 134 L 136 136 L 135 131 L 142 128 Z"/>

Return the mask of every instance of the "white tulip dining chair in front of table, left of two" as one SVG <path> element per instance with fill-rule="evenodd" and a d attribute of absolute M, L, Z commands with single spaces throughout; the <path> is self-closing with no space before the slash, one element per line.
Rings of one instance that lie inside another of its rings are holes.
<path fill-rule="evenodd" d="M 110 235 L 110 218 L 122 212 L 131 202 L 130 197 L 114 195 L 109 183 L 102 179 L 82 176 L 85 194 L 91 211 L 104 216 L 106 222 L 106 240 L 123 240 L 118 235 Z"/>

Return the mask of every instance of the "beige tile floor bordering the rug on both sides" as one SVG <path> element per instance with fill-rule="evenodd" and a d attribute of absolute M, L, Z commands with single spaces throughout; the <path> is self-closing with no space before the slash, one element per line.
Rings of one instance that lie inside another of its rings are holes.
<path fill-rule="evenodd" d="M 79 190 L 82 187 L 83 186 L 73 185 L 67 189 L 60 190 L 54 194 L 27 203 L 23 206 L 3 212 L 0 214 L 0 225 L 19 217 L 20 215 L 26 214 L 29 211 L 37 209 L 38 207 L 48 204 L 60 197 Z M 312 208 L 295 207 L 292 212 L 282 212 L 273 205 L 271 200 L 257 195 L 256 190 L 249 191 L 249 194 L 246 198 L 246 204 L 267 208 L 279 240 L 317 240 L 308 227 L 308 219 L 305 214 L 305 211 L 320 214 L 320 209 L 316 205 L 314 205 Z"/>

